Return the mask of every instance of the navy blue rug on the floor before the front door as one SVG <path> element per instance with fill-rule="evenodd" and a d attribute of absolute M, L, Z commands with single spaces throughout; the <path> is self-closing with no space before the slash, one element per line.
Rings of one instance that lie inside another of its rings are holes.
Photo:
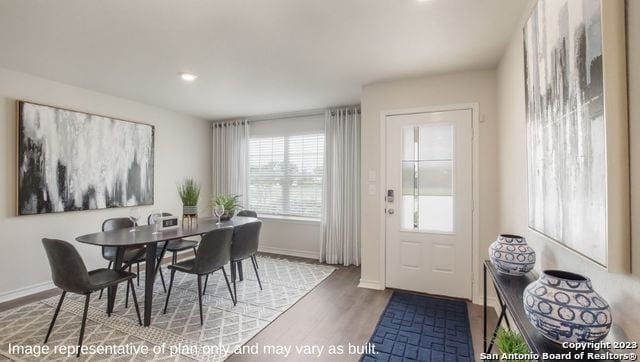
<path fill-rule="evenodd" d="M 474 361 L 465 302 L 394 292 L 369 340 L 370 361 Z"/>

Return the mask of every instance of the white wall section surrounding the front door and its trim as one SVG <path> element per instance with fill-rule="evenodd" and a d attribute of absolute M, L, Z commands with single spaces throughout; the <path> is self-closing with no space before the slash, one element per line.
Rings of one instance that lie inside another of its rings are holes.
<path fill-rule="evenodd" d="M 380 112 L 393 109 L 478 103 L 480 106 L 480 253 L 498 233 L 497 110 L 495 71 L 475 71 L 367 85 L 362 90 L 362 286 L 384 287 L 380 268 L 384 222 L 380 196 L 368 193 L 369 173 L 380 180 Z M 476 167 L 476 166 L 474 166 Z M 385 185 L 376 184 L 377 190 Z M 471 241 L 469 241 L 471 243 Z M 481 275 L 481 266 L 474 273 Z M 477 285 L 474 295 L 477 296 Z"/>

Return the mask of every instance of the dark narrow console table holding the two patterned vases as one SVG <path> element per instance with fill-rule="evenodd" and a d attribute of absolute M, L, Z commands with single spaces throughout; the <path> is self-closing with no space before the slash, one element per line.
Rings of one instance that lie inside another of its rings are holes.
<path fill-rule="evenodd" d="M 498 303 L 500 305 L 500 314 L 498 315 L 498 323 L 496 324 L 491 338 L 487 338 L 487 280 L 491 278 L 493 285 L 498 295 Z M 562 348 L 557 343 L 554 343 L 538 332 L 538 330 L 529 322 L 524 312 L 524 305 L 522 302 L 522 293 L 529 283 L 535 281 L 537 275 L 531 272 L 527 275 L 516 277 L 499 273 L 490 261 L 484 261 L 484 314 L 483 314 L 483 348 L 485 353 L 491 353 L 493 348 L 496 332 L 502 320 L 507 324 L 507 327 L 511 328 L 511 322 L 516 326 L 522 337 L 524 337 L 529 351 L 531 353 L 542 356 L 543 353 L 562 354 L 567 353 L 569 350 Z M 507 311 L 509 315 L 507 316 Z M 511 319 L 511 321 L 509 321 Z M 590 350 L 587 350 L 589 352 Z M 600 351 L 594 353 L 604 353 L 606 351 Z M 540 361 L 544 361 L 540 359 Z M 612 361 L 609 359 L 600 361 Z"/>

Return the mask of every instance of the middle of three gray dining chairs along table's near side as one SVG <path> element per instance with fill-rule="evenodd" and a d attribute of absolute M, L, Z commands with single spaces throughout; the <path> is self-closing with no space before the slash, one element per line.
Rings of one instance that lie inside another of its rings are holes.
<path fill-rule="evenodd" d="M 224 266 L 229 262 L 231 257 L 231 238 L 233 236 L 233 227 L 222 227 L 212 230 L 202 237 L 200 245 L 198 245 L 198 253 L 192 259 L 171 264 L 168 268 L 171 270 L 171 279 L 169 280 L 169 290 L 167 291 L 167 299 L 164 303 L 163 314 L 167 313 L 169 298 L 171 297 L 171 288 L 176 271 L 187 274 L 197 275 L 198 277 L 198 305 L 200 307 L 200 325 L 204 323 L 202 317 L 202 277 L 209 275 L 218 270 L 222 270 L 224 280 L 227 282 L 227 289 L 233 305 L 236 305 L 236 298 L 231 291 L 229 278 Z"/>

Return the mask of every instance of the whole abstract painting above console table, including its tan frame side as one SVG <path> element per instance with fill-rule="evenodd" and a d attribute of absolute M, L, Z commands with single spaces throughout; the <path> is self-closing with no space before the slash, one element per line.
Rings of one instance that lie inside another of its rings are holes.
<path fill-rule="evenodd" d="M 539 0 L 524 53 L 529 227 L 626 271 L 624 1 Z"/>

